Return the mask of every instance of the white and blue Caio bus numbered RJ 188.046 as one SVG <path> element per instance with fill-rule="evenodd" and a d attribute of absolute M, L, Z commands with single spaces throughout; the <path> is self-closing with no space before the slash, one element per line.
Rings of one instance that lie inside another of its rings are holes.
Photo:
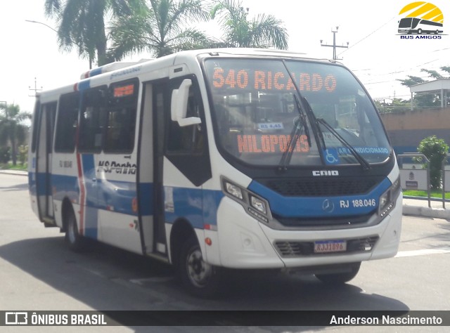
<path fill-rule="evenodd" d="M 394 151 L 333 61 L 224 48 L 106 65 L 39 93 L 31 141 L 45 226 L 75 250 L 90 238 L 170 263 L 198 296 L 229 269 L 344 283 L 397 253 Z"/>

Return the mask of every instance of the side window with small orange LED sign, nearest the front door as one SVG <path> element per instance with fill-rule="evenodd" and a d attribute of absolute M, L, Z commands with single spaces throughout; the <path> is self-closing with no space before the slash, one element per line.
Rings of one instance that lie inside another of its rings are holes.
<path fill-rule="evenodd" d="M 134 148 L 138 84 L 132 80 L 110 86 L 105 152 L 131 152 Z"/>

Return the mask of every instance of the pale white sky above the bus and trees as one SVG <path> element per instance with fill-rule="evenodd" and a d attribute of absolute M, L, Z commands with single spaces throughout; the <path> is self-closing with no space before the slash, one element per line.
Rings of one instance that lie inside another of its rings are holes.
<path fill-rule="evenodd" d="M 53 89 L 74 84 L 89 70 L 87 59 L 76 51 L 58 49 L 57 23 L 44 15 L 45 0 L 0 0 L 0 103 L 15 103 L 32 112 L 34 89 Z M 289 51 L 314 58 L 333 58 L 332 30 L 340 62 L 349 67 L 366 86 L 372 98 L 410 98 L 398 79 L 407 75 L 430 79 L 420 69 L 437 70 L 450 66 L 450 1 L 432 0 L 444 15 L 440 39 L 401 39 L 397 34 L 399 15 L 410 0 L 242 0 L 248 18 L 271 14 L 283 21 L 289 34 Z M 44 24 L 27 22 L 34 20 Z M 49 27 L 46 27 L 48 25 Z M 216 23 L 197 25 L 221 36 Z M 149 58 L 139 54 L 127 60 Z M 445 72 L 440 71 L 442 74 Z"/>

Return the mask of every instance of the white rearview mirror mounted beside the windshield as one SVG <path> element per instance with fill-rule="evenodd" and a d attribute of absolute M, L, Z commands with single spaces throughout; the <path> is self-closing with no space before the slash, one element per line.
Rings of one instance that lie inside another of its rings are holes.
<path fill-rule="evenodd" d="M 199 117 L 186 118 L 188 113 L 189 89 L 191 86 L 192 80 L 184 79 L 183 82 L 181 82 L 179 89 L 174 89 L 174 91 L 172 91 L 170 117 L 172 122 L 178 122 L 181 127 L 202 123 Z"/>

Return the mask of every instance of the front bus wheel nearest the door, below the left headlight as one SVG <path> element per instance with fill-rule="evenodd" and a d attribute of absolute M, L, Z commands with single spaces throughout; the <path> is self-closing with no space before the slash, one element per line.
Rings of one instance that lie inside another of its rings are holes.
<path fill-rule="evenodd" d="M 192 235 L 181 247 L 179 276 L 182 285 L 193 296 L 212 298 L 221 288 L 221 269 L 203 261 L 197 237 Z"/>

